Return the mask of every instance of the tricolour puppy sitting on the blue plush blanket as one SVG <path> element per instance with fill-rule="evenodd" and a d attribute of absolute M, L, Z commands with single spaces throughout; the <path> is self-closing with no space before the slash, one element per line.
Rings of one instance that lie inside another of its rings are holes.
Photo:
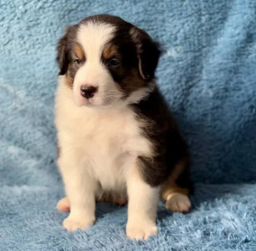
<path fill-rule="evenodd" d="M 160 50 L 120 17 L 95 15 L 58 41 L 58 166 L 64 228 L 94 224 L 96 201 L 128 201 L 126 234 L 156 235 L 159 196 L 188 212 L 189 154 L 156 86 Z"/>

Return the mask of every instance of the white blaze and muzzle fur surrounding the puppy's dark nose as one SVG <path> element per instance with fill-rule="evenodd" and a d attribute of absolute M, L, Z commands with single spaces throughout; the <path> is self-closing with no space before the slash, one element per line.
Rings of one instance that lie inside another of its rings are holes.
<path fill-rule="evenodd" d="M 92 105 L 106 105 L 117 99 L 117 87 L 108 69 L 102 64 L 104 45 L 114 36 L 116 27 L 100 21 L 88 21 L 80 24 L 77 41 L 85 52 L 85 63 L 76 71 L 73 96 L 77 105 L 89 101 L 82 97 L 81 86 L 92 85 L 98 91 L 90 99 Z"/>

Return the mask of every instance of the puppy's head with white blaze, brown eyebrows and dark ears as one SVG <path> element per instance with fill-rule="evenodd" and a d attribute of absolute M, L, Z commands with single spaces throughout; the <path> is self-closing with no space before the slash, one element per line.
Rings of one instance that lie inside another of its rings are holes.
<path fill-rule="evenodd" d="M 110 15 L 68 27 L 57 52 L 59 75 L 79 106 L 138 102 L 151 91 L 160 55 L 145 31 Z"/>

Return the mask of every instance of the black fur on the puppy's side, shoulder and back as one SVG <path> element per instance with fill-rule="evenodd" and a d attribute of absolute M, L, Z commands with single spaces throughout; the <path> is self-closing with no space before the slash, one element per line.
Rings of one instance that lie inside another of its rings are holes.
<path fill-rule="evenodd" d="M 158 186 L 168 178 L 180 160 L 188 158 L 186 142 L 182 139 L 168 105 L 157 88 L 149 95 L 147 100 L 141 100 L 139 104 L 131 106 L 138 115 L 137 119 L 142 124 L 142 134 L 153 145 L 153 156 L 151 158 L 138 157 L 142 177 L 151 186 Z M 183 172 L 188 172 L 188 168 L 188 165 L 185 166 L 181 175 L 183 175 Z M 181 181 L 178 177 L 177 182 L 182 187 L 190 187 L 189 178 Z"/>

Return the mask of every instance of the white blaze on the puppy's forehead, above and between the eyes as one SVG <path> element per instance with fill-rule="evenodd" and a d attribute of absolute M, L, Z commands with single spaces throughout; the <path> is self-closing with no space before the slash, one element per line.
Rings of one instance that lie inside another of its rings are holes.
<path fill-rule="evenodd" d="M 113 37 L 115 29 L 109 23 L 99 21 L 88 21 L 80 26 L 78 41 L 84 48 L 86 60 L 99 63 L 104 44 Z"/>

